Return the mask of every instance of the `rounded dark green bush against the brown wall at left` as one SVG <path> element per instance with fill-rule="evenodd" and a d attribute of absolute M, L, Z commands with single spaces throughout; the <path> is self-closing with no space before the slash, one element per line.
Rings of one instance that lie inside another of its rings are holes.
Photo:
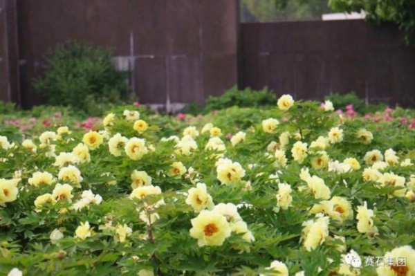
<path fill-rule="evenodd" d="M 122 92 L 129 90 L 126 73 L 116 71 L 110 59 L 107 48 L 78 42 L 59 45 L 46 59 L 46 73 L 34 81 L 35 89 L 48 104 L 101 115 L 97 104 L 120 103 Z"/>

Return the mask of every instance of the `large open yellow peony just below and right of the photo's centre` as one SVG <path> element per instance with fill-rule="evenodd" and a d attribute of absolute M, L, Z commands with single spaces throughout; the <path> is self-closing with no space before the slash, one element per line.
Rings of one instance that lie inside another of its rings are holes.
<path fill-rule="evenodd" d="M 222 184 L 237 184 L 245 176 L 245 169 L 230 159 L 219 159 L 216 167 L 217 178 Z"/>

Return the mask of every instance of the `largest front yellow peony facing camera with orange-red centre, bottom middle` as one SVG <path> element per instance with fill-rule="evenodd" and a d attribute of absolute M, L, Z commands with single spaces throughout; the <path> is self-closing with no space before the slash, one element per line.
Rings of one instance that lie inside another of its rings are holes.
<path fill-rule="evenodd" d="M 200 247 L 221 246 L 230 237 L 230 225 L 219 212 L 203 210 L 191 222 L 190 237 L 197 239 Z"/>

